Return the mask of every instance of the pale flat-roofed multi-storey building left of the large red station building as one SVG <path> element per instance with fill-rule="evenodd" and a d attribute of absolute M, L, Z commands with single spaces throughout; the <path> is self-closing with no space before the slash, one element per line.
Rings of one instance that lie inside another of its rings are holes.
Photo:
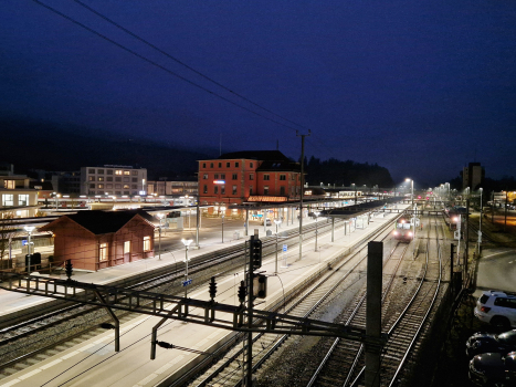
<path fill-rule="evenodd" d="M 147 195 L 147 169 L 119 165 L 82 167 L 81 195 Z"/>

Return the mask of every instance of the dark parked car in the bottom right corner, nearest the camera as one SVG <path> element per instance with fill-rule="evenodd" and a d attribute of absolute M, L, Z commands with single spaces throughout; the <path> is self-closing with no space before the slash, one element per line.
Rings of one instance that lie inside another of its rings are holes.
<path fill-rule="evenodd" d="M 470 380 L 477 386 L 516 386 L 516 352 L 507 355 L 487 353 L 470 362 Z"/>

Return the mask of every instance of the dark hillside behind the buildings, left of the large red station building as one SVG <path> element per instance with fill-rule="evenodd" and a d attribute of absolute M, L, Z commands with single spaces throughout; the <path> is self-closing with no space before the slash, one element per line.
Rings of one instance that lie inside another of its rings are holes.
<path fill-rule="evenodd" d="M 149 179 L 193 177 L 196 160 L 217 157 L 147 139 L 120 138 L 109 132 L 20 118 L 0 118 L 0 163 L 29 169 L 78 170 L 104 164 L 147 168 Z"/>

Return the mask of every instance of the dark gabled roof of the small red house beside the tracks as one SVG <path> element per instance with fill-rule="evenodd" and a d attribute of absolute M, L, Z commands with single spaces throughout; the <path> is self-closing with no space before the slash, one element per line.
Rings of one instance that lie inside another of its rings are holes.
<path fill-rule="evenodd" d="M 77 213 L 65 215 L 53 222 L 40 228 L 40 230 L 52 230 L 52 224 L 59 222 L 62 218 L 69 218 L 77 224 L 84 227 L 95 236 L 117 232 L 127 224 L 134 217 L 139 216 L 149 226 L 154 226 L 156 219 L 143 210 L 129 211 L 80 211 Z"/>

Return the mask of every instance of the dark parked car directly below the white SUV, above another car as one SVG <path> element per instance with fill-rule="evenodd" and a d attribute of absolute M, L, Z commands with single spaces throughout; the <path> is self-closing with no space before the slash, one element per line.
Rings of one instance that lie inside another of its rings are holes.
<path fill-rule="evenodd" d="M 466 342 L 466 355 L 468 357 L 485 354 L 499 353 L 503 355 L 516 351 L 516 330 L 504 332 L 499 335 L 493 333 L 475 333 Z"/>

